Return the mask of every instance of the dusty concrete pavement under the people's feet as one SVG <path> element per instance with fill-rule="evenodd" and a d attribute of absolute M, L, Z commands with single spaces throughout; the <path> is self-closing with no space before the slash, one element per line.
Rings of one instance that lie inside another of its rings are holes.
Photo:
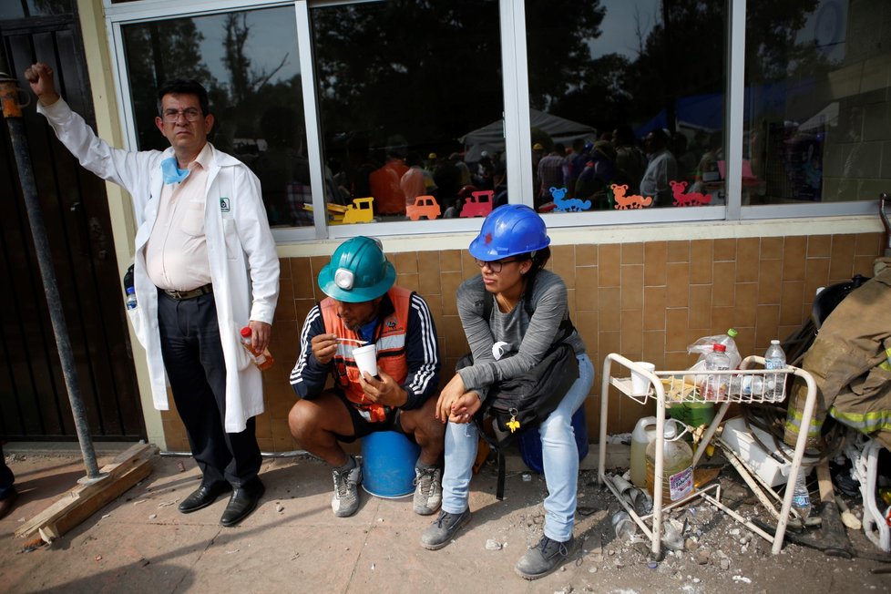
<path fill-rule="evenodd" d="M 200 474 L 190 458 L 169 456 L 153 456 L 146 480 L 51 546 L 31 550 L 26 539 L 12 536 L 15 528 L 74 486 L 83 465 L 79 452 L 6 449 L 21 495 L 0 520 L 5 592 L 845 592 L 891 585 L 891 577 L 870 573 L 875 560 L 826 558 L 794 545 L 773 557 L 757 537 L 743 554 L 737 540 L 748 532 L 704 507 L 699 517 L 709 520 L 697 527 L 698 550 L 650 567 L 640 547 L 616 540 L 611 497 L 590 470 L 579 478 L 579 548 L 564 568 L 529 582 L 513 566 L 541 535 L 544 477 L 508 472 L 507 497 L 498 502 L 491 465 L 472 483 L 471 523 L 439 551 L 419 546 L 432 517 L 416 516 L 411 497 L 363 493 L 354 517 L 333 517 L 331 471 L 310 458 L 264 459 L 267 494 L 239 527 L 220 527 L 225 499 L 179 514 L 177 504 Z M 100 456 L 100 466 L 109 459 Z M 743 492 L 743 507 L 744 499 Z M 493 543 L 502 548 L 491 550 Z M 858 546 L 879 557 L 868 543 Z M 701 564 L 703 550 L 712 555 Z"/>

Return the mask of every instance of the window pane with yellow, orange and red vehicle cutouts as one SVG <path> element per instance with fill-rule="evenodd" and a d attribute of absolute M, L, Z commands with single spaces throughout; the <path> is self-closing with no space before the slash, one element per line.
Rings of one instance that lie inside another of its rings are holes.
<path fill-rule="evenodd" d="M 311 20 L 332 224 L 507 200 L 497 0 L 326 5 Z"/>

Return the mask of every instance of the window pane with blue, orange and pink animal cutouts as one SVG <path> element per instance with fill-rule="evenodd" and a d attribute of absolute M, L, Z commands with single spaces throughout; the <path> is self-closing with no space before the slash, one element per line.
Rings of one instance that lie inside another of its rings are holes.
<path fill-rule="evenodd" d="M 526 0 L 540 212 L 725 203 L 726 5 Z"/>

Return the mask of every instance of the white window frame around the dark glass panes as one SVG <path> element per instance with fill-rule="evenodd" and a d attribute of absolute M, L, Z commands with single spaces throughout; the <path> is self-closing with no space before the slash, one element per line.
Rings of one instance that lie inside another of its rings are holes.
<path fill-rule="evenodd" d="M 325 217 L 324 179 L 321 125 L 315 93 L 315 68 L 312 63 L 312 33 L 310 9 L 320 6 L 362 4 L 382 0 L 141 0 L 111 4 L 103 0 L 108 30 L 108 46 L 114 56 L 115 89 L 118 98 L 118 117 L 122 123 L 128 148 L 137 144 L 136 125 L 130 103 L 128 74 L 123 53 L 121 27 L 154 20 L 167 20 L 201 15 L 218 15 L 236 10 L 251 10 L 278 6 L 293 6 L 300 53 L 304 118 L 306 124 L 307 157 L 310 160 L 312 186 L 312 227 L 274 229 L 277 243 L 343 240 L 365 233 L 375 236 L 427 236 L 440 233 L 476 232 L 482 219 L 448 219 L 418 221 L 388 221 L 370 224 L 328 225 Z M 447 1 L 447 0 L 443 0 Z M 743 220 L 815 219 L 845 215 L 873 215 L 878 212 L 877 200 L 842 202 L 806 202 L 742 206 L 743 171 L 743 105 L 746 0 L 725 0 L 729 15 L 725 90 L 727 110 L 725 135 L 727 142 L 727 204 L 689 209 L 644 209 L 634 211 L 581 211 L 571 215 L 547 216 L 550 229 L 598 228 L 641 224 L 674 224 L 685 222 Z M 499 0 L 500 39 L 504 87 L 504 128 L 507 173 L 510 179 L 511 200 L 532 205 L 535 189 L 528 163 L 532 159 L 529 121 L 526 11 L 525 2 Z M 521 200 L 517 200 L 517 196 Z"/>

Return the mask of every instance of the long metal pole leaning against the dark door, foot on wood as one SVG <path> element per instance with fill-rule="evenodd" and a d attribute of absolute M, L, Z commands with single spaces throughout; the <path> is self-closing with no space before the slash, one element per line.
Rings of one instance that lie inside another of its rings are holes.
<path fill-rule="evenodd" d="M 25 123 L 22 121 L 22 106 L 18 103 L 21 89 L 18 87 L 18 81 L 6 74 L 5 69 L 5 56 L 0 52 L 0 102 L 3 105 L 3 117 L 9 128 L 9 138 L 12 140 L 18 178 L 22 182 L 22 195 L 25 197 L 28 221 L 31 224 L 31 235 L 34 238 L 34 249 L 37 253 L 37 263 L 44 283 L 46 304 L 49 306 L 49 317 L 53 323 L 53 332 L 56 334 L 56 346 L 62 363 L 62 374 L 65 376 L 68 401 L 71 403 L 71 412 L 77 427 L 77 440 L 80 442 L 80 451 L 84 456 L 84 465 L 87 466 L 87 480 L 93 481 L 102 476 L 99 474 L 96 450 L 93 448 L 84 403 L 80 397 L 80 383 L 77 380 L 77 368 L 71 353 L 71 341 L 68 339 L 65 313 L 62 312 L 60 306 L 62 301 L 59 297 L 56 271 L 50 257 L 43 213 L 40 211 L 40 203 L 37 200 L 34 169 L 31 167 L 31 154 L 25 136 Z"/>

